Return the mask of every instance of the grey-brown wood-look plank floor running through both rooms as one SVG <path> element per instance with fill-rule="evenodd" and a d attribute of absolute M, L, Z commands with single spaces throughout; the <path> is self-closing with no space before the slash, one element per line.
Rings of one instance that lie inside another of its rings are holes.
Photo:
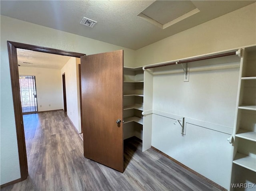
<path fill-rule="evenodd" d="M 29 177 L 2 191 L 218 191 L 138 139 L 124 142 L 124 173 L 86 159 L 83 142 L 62 110 L 24 115 Z"/>

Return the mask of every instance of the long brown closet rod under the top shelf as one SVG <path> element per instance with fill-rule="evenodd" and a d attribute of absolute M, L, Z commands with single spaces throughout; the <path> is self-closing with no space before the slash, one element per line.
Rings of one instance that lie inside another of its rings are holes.
<path fill-rule="evenodd" d="M 212 55 L 212 56 L 206 56 L 206 57 L 201 57 L 201 58 L 194 58 L 190 60 L 181 60 L 181 61 L 176 61 L 176 62 L 171 62 L 171 63 L 166 63 L 166 64 L 160 64 L 160 65 L 155 65 L 155 66 L 148 66 L 144 67 L 144 69 L 150 69 L 150 68 L 156 68 L 156 67 L 162 67 L 162 66 L 169 66 L 169 65 L 175 65 L 175 64 L 182 64 L 182 63 L 188 63 L 188 62 L 194 62 L 194 61 L 200 61 L 200 60 L 207 60 L 207 59 L 212 59 L 212 58 L 219 58 L 219 57 L 224 57 L 224 56 L 231 56 L 231 55 L 236 55 L 236 51 L 234 52 L 228 52 L 228 53 L 222 53 L 222 54 L 217 54 L 217 55 Z"/>

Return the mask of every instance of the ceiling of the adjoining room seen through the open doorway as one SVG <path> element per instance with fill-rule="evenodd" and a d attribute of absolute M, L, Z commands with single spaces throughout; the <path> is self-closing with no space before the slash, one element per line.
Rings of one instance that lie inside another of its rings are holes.
<path fill-rule="evenodd" d="M 17 49 L 17 58 L 21 67 L 62 69 L 71 57 Z"/>

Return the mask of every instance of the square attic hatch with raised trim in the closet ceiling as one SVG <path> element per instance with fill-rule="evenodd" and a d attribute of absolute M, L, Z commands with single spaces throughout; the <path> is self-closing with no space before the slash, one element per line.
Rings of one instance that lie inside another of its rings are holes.
<path fill-rule="evenodd" d="M 190 0 L 158 0 L 143 10 L 138 17 L 165 29 L 200 12 Z"/>

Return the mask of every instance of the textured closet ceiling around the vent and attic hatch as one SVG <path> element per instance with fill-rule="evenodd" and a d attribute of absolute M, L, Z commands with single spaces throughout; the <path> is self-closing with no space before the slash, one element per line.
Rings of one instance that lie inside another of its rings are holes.
<path fill-rule="evenodd" d="M 178 19 L 177 22 L 172 22 L 165 29 L 138 16 L 154 2 L 150 0 L 1 0 L 0 13 L 4 16 L 136 50 L 255 1 L 192 0 L 180 1 L 180 3 L 173 1 L 170 11 L 163 10 L 166 6 L 161 6 L 161 4 L 166 4 L 166 1 L 158 1 L 157 6 L 152 5 L 150 12 L 154 17 L 160 18 L 160 22 L 180 17 L 184 11 L 189 11 L 194 7 L 199 10 L 183 20 Z M 83 26 L 80 24 L 82 17 L 90 18 L 98 23 L 94 28 Z M 162 24 L 159 23 L 159 25 Z"/>

